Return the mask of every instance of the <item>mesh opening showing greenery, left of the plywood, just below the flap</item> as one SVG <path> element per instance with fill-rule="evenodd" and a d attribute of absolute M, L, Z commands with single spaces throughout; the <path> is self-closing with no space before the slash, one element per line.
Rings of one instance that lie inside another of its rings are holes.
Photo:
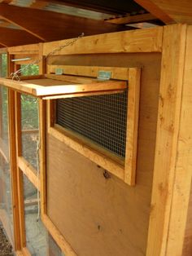
<path fill-rule="evenodd" d="M 38 99 L 21 95 L 22 156 L 37 170 L 39 144 Z"/>

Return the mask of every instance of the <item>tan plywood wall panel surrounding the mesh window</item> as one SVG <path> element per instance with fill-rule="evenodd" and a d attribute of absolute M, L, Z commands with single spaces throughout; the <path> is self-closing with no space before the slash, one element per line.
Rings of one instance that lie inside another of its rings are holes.
<path fill-rule="evenodd" d="M 75 59 L 58 64 L 75 64 Z M 53 59 L 52 59 L 53 60 Z M 47 144 L 47 214 L 76 254 L 146 254 L 159 92 L 160 55 L 86 55 L 84 65 L 142 66 L 134 188 L 52 136 Z"/>

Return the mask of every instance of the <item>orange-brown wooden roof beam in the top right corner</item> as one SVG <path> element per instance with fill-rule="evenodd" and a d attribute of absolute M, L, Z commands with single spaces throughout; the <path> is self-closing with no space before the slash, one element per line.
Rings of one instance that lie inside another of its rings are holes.
<path fill-rule="evenodd" d="M 190 0 L 134 0 L 166 24 L 192 24 L 192 2 Z"/>

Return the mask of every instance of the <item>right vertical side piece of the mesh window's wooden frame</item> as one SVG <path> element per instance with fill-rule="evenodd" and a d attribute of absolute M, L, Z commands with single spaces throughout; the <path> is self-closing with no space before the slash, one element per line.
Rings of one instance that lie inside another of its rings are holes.
<path fill-rule="evenodd" d="M 129 68 L 128 126 L 126 136 L 124 181 L 132 186 L 135 185 L 136 178 L 140 76 L 140 68 Z"/>

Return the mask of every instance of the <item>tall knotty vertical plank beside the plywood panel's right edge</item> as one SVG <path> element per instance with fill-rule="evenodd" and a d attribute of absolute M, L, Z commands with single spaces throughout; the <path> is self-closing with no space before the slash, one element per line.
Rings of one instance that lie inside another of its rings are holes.
<path fill-rule="evenodd" d="M 185 58 L 185 25 L 164 27 L 159 114 L 147 256 L 165 255 L 172 206 L 181 90 Z M 179 241 L 178 241 L 179 242 Z"/>

